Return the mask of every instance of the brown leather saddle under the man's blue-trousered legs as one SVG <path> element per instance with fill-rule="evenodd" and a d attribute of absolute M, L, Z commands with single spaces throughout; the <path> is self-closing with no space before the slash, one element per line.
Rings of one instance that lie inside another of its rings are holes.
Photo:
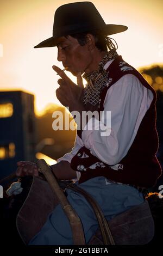
<path fill-rule="evenodd" d="M 40 231 L 48 215 L 58 203 L 48 182 L 33 178 L 28 196 L 16 218 L 17 231 L 26 245 Z M 146 200 L 117 215 L 108 224 L 115 245 L 146 245 L 154 237 L 154 221 Z M 104 244 L 100 229 L 87 244 Z"/>

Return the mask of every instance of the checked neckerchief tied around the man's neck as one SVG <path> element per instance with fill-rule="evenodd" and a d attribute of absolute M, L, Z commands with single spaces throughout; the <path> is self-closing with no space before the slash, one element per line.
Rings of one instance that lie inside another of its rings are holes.
<path fill-rule="evenodd" d="M 84 74 L 83 78 L 87 81 L 87 85 L 84 89 L 83 103 L 91 103 L 95 106 L 99 102 L 99 96 L 102 89 L 108 83 L 108 72 L 104 69 L 104 65 L 111 59 L 115 59 L 118 53 L 115 49 L 107 52 L 104 58 L 98 65 L 98 69 L 90 74 Z"/>

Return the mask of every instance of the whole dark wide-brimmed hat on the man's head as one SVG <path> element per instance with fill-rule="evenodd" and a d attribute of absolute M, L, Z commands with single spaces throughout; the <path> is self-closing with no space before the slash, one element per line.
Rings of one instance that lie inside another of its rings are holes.
<path fill-rule="evenodd" d="M 106 25 L 95 5 L 91 2 L 78 2 L 61 5 L 54 15 L 53 36 L 34 48 L 56 46 L 61 36 L 100 30 L 104 35 L 117 34 L 128 29 L 123 25 Z"/>

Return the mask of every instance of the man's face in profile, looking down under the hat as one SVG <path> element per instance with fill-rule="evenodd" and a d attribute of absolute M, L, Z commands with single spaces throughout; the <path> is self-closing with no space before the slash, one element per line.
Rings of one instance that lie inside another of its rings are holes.
<path fill-rule="evenodd" d="M 87 45 L 81 46 L 77 39 L 68 35 L 62 36 L 57 41 L 58 61 L 62 62 L 64 67 L 68 67 L 74 76 L 79 72 L 88 72 L 91 63 L 91 53 Z"/>

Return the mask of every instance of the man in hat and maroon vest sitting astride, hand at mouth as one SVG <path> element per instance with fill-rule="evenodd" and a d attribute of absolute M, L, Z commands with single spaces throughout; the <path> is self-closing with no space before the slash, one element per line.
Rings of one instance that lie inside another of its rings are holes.
<path fill-rule="evenodd" d="M 77 76 L 78 86 L 53 66 L 61 77 L 57 97 L 70 112 L 80 113 L 78 125 L 83 123 L 84 111 L 102 112 L 100 118 L 89 118 L 83 130 L 78 127 L 71 153 L 51 168 L 58 179 L 77 178 L 77 184 L 96 199 L 107 220 L 141 204 L 143 194 L 137 188 L 152 187 L 161 174 L 155 156 L 156 94 L 140 73 L 118 56 L 108 37 L 126 29 L 106 25 L 90 2 L 65 4 L 55 12 L 52 38 L 35 46 L 57 46 L 58 60 Z M 17 164 L 18 176 L 38 175 L 35 163 Z M 82 220 L 88 242 L 98 227 L 95 214 L 80 194 L 67 190 L 67 199 Z M 70 224 L 60 205 L 30 241 L 30 245 L 72 244 Z"/>

